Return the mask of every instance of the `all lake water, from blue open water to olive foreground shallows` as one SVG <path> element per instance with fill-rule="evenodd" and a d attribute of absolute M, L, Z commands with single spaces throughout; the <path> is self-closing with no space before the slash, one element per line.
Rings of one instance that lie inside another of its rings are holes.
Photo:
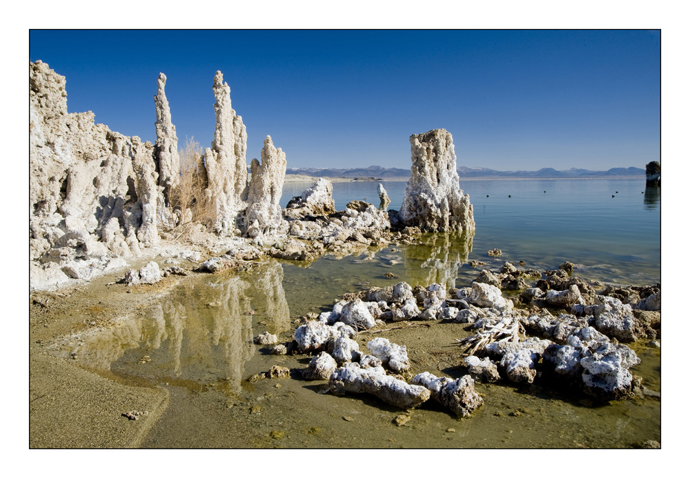
<path fill-rule="evenodd" d="M 333 183 L 337 209 L 352 199 L 377 202 L 377 182 Z M 383 182 L 399 209 L 404 181 Z M 309 183 L 286 183 L 282 206 Z M 419 244 L 368 250 L 342 259 L 295 263 L 271 259 L 258 272 L 197 277 L 161 303 L 112 330 L 64 344 L 81 364 L 107 377 L 166 388 L 170 405 L 144 441 L 156 448 L 629 448 L 660 441 L 660 401 L 634 399 L 600 406 L 542 386 L 476 384 L 484 406 L 458 420 L 434 404 L 402 410 L 367 396 L 324 394 L 327 381 L 248 377 L 273 365 L 304 369 L 311 357 L 275 356 L 253 343 L 264 331 L 289 341 L 295 321 L 331 310 L 345 292 L 407 281 L 469 286 L 482 268 L 504 261 L 525 268 L 576 264 L 586 279 L 649 285 L 660 282 L 660 194 L 640 179 L 462 181 L 474 207 L 476 232 L 426 235 Z M 544 192 L 546 191 L 546 192 Z M 509 197 L 511 195 L 511 197 Z M 611 197 L 611 196 L 615 197 Z M 500 248 L 493 258 L 488 250 Z M 396 279 L 387 279 L 392 272 Z M 464 375 L 455 339 L 466 324 L 385 334 L 406 345 L 413 372 Z M 373 338 L 360 333 L 360 350 Z M 660 391 L 660 349 L 633 344 L 643 384 Z"/>

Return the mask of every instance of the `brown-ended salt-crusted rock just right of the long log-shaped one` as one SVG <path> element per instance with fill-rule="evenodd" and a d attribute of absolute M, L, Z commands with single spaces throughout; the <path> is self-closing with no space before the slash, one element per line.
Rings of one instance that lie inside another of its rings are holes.
<path fill-rule="evenodd" d="M 469 375 L 453 380 L 422 372 L 415 375 L 411 383 L 431 390 L 431 397 L 450 408 L 457 417 L 467 417 L 484 403 L 484 399 L 475 391 L 474 380 Z"/>

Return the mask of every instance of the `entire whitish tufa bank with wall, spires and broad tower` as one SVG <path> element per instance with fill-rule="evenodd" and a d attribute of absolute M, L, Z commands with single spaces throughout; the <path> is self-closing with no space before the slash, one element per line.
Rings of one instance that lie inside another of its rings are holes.
<path fill-rule="evenodd" d="M 146 257 L 201 263 L 202 252 L 219 252 L 204 261 L 219 267 L 206 269 L 247 267 L 242 261 L 266 255 L 342 257 L 394 240 L 410 243 L 423 231 L 475 228 L 446 130 L 411 137 L 412 177 L 400 212 L 385 210 L 382 185 L 383 210 L 351 201 L 336 211 L 333 185 L 323 178 L 282 209 L 286 155 L 267 136 L 261 161 L 253 159 L 248 174 L 246 128 L 221 72 L 212 86 L 213 142 L 203 155 L 182 161 L 165 74 L 154 97 L 154 145 L 95 124 L 92 112 L 68 113 L 65 78 L 41 61 L 29 70 L 32 289 L 89 281 Z"/>

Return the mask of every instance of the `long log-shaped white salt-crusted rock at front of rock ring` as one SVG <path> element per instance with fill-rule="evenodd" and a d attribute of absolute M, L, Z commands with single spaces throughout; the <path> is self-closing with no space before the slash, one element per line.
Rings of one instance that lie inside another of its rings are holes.
<path fill-rule="evenodd" d="M 406 384 L 386 375 L 382 367 L 361 368 L 351 363 L 338 368 L 328 380 L 333 395 L 368 393 L 398 408 L 415 408 L 431 397 L 428 388 Z"/>

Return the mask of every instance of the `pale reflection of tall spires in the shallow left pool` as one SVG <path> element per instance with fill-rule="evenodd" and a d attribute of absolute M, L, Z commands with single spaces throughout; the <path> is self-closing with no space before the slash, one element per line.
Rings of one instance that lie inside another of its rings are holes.
<path fill-rule="evenodd" d="M 144 314 L 117 327 L 85 332 L 66 344 L 90 368 L 195 386 L 221 381 L 239 392 L 253 357 L 254 326 L 279 334 L 290 328 L 290 310 L 277 261 L 257 272 L 188 281 Z M 205 279 L 205 280 L 204 280 Z"/>

